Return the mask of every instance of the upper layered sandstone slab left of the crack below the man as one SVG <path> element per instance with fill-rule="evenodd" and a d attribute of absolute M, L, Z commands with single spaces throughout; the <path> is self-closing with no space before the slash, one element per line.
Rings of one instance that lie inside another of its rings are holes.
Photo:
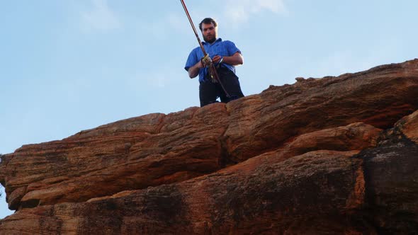
<path fill-rule="evenodd" d="M 9 207 L 83 202 L 216 171 L 218 137 L 227 127 L 222 116 L 227 116 L 225 105 L 152 114 L 18 149 L 6 173 L 13 169 L 9 172 L 19 176 L 6 176 L 6 190 L 27 189 L 19 190 L 15 197 L 21 202 L 9 201 Z"/>

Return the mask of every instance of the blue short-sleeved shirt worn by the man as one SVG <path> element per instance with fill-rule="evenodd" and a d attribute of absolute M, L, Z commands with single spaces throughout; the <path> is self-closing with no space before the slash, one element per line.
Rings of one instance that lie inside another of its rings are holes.
<path fill-rule="evenodd" d="M 202 42 L 203 47 L 205 48 L 206 53 L 209 54 L 210 58 L 213 58 L 215 55 L 220 55 L 222 57 L 230 57 L 234 55 L 235 53 L 239 52 L 241 54 L 241 51 L 235 46 L 234 42 L 231 41 L 222 41 L 221 38 L 218 38 L 213 42 L 213 44 L 210 44 L 208 42 Z M 188 55 L 186 65 L 184 66 L 184 69 L 188 71 L 188 68 L 195 65 L 197 62 L 200 61 L 200 59 L 203 57 L 203 52 L 200 47 L 196 47 L 193 49 L 190 54 Z M 228 69 L 231 69 L 235 73 L 235 66 L 230 64 L 225 64 Z M 207 74 L 208 68 L 202 68 L 199 71 L 199 81 L 205 81 L 205 74 Z"/>

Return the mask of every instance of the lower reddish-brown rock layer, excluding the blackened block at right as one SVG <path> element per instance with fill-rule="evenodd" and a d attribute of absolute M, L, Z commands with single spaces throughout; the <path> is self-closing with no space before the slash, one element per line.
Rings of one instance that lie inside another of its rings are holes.
<path fill-rule="evenodd" d="M 276 163 L 242 163 L 183 183 L 21 210 L 0 227 L 7 234 L 363 231 L 351 218 L 364 198 L 361 160 L 351 157 L 356 153 L 312 151 Z"/>

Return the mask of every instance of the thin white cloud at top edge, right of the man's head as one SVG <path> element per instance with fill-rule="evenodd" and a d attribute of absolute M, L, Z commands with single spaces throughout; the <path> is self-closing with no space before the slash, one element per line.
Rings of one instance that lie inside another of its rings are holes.
<path fill-rule="evenodd" d="M 233 23 L 245 23 L 251 16 L 263 11 L 281 15 L 288 13 L 284 0 L 228 0 L 226 6 L 225 18 Z"/>

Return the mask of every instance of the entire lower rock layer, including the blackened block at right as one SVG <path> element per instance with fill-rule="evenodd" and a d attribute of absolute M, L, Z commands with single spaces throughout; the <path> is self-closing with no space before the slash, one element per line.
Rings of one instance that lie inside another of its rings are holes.
<path fill-rule="evenodd" d="M 385 143 L 261 155 L 183 183 L 23 209 L 0 234 L 413 234 L 418 145 Z"/>

